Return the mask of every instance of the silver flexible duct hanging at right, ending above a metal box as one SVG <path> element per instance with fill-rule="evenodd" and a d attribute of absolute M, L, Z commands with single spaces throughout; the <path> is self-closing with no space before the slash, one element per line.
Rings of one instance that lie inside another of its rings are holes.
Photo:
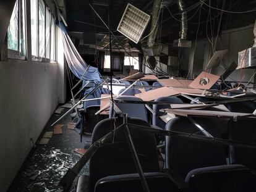
<path fill-rule="evenodd" d="M 179 0 L 178 6 L 181 11 L 181 31 L 179 31 L 179 36 L 182 40 L 187 40 L 187 12 L 185 10 L 184 1 Z"/>

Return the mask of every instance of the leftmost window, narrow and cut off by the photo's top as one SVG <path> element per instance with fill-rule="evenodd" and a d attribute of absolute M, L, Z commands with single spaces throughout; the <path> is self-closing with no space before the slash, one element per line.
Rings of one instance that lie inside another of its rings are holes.
<path fill-rule="evenodd" d="M 26 25 L 25 25 L 25 0 L 17 0 L 7 31 L 7 44 L 9 56 L 26 54 Z"/>

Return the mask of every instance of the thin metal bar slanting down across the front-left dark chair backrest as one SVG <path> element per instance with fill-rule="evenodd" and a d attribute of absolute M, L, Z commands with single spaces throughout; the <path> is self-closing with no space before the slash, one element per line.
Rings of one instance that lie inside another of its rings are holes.
<path fill-rule="evenodd" d="M 145 178 L 145 175 L 144 175 L 143 170 L 142 170 L 142 165 L 140 165 L 139 157 L 137 156 L 137 152 L 136 152 L 136 149 L 135 149 L 135 146 L 134 146 L 134 142 L 132 141 L 132 136 L 130 135 L 130 131 L 129 131 L 129 128 L 128 128 L 128 125 L 127 125 L 127 114 L 124 114 L 124 123 L 126 124 L 124 131 L 126 133 L 127 142 L 129 144 L 129 147 L 130 147 L 130 152 L 132 152 L 132 157 L 134 158 L 134 163 L 135 163 L 136 169 L 137 169 L 137 171 L 139 173 L 139 176 L 140 176 L 140 182 L 142 183 L 143 191 L 144 192 L 150 192 L 150 190 L 148 188 L 146 178 Z"/>

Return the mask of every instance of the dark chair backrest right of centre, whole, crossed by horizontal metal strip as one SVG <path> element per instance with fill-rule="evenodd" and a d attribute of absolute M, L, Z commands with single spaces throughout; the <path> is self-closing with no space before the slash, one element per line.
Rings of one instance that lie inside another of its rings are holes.
<path fill-rule="evenodd" d="M 211 119 L 194 118 L 194 120 L 212 136 L 220 138 L 218 127 Z M 202 135 L 186 117 L 169 120 L 166 130 Z M 166 167 L 173 169 L 182 178 L 185 178 L 190 170 L 224 164 L 226 157 L 222 145 L 166 136 Z"/>

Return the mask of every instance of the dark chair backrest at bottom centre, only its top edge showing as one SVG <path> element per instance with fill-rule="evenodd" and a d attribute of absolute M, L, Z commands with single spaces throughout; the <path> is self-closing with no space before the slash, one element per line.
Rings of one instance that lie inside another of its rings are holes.
<path fill-rule="evenodd" d="M 150 192 L 179 191 L 166 173 L 145 173 Z M 116 175 L 101 178 L 95 192 L 142 192 L 139 174 Z"/>

